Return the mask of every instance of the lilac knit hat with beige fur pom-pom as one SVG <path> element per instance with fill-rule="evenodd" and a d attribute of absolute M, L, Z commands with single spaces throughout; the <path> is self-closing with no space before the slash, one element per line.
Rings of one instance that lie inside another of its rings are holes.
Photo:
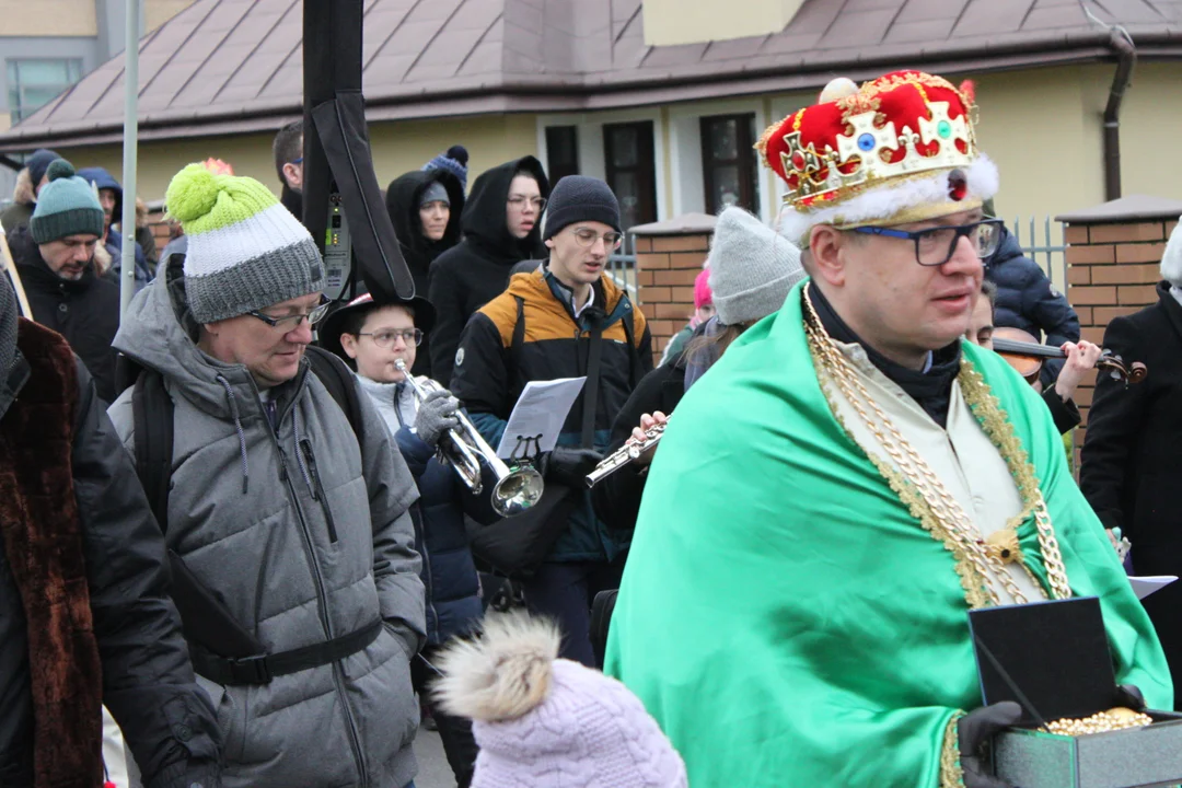
<path fill-rule="evenodd" d="M 443 709 L 473 721 L 472 788 L 688 788 L 686 766 L 628 688 L 558 659 L 561 636 L 522 613 L 489 617 L 440 658 Z"/>

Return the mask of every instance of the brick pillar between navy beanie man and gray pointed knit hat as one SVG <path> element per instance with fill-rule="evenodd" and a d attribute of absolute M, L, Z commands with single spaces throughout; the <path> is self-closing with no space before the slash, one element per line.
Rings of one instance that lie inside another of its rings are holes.
<path fill-rule="evenodd" d="M 636 239 L 636 289 L 652 333 L 652 359 L 694 315 L 694 280 L 710 249 L 710 234 Z"/>

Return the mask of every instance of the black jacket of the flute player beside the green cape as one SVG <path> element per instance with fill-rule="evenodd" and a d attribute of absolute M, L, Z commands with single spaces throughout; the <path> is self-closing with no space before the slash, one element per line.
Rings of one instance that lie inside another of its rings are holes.
<path fill-rule="evenodd" d="M 658 410 L 669 416 L 684 393 L 686 360 L 682 356 L 645 375 L 611 425 L 611 443 L 606 454 L 624 445 L 632 435 L 632 428 L 639 426 L 641 416 Z M 599 520 L 612 530 L 636 528 L 636 515 L 641 510 L 641 496 L 648 476 L 647 465 L 638 468 L 628 464 L 596 484 L 591 490 L 591 502 Z"/>

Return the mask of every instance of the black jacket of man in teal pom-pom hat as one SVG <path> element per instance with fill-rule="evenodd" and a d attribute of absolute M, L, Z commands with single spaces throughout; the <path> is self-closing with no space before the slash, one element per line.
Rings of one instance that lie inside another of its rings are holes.
<path fill-rule="evenodd" d="M 115 402 L 115 349 L 119 330 L 119 286 L 86 268 L 82 279 L 67 281 L 50 271 L 33 236 L 21 228 L 9 240 L 33 319 L 66 338 L 90 373 L 98 396 Z M 27 317 L 27 315 L 26 315 Z"/>

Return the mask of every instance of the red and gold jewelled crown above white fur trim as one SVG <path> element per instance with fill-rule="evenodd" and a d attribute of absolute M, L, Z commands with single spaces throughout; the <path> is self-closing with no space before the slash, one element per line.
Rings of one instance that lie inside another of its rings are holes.
<path fill-rule="evenodd" d="M 901 178 L 968 169 L 978 159 L 973 109 L 972 83 L 956 89 L 920 71 L 860 90 L 834 80 L 821 103 L 768 128 L 755 148 L 788 184 L 785 202 L 814 211 Z"/>

